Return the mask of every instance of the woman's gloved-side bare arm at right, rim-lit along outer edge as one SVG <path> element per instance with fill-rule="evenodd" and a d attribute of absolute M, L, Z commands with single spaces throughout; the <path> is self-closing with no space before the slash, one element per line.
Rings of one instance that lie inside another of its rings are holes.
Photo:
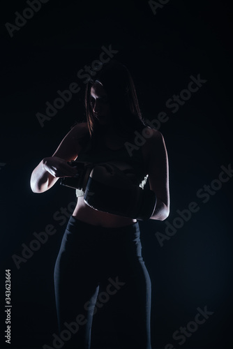
<path fill-rule="evenodd" d="M 167 149 L 163 135 L 153 130 L 148 142 L 148 174 L 151 191 L 156 193 L 156 207 L 150 219 L 164 221 L 170 213 Z"/>

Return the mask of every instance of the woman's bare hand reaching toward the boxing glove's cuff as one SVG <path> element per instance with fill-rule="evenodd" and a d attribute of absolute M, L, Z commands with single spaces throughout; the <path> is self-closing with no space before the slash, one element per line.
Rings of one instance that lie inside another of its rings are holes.
<path fill-rule="evenodd" d="M 57 156 L 44 158 L 43 167 L 53 177 L 74 177 L 77 174 L 76 167 L 68 165 L 66 160 Z"/>

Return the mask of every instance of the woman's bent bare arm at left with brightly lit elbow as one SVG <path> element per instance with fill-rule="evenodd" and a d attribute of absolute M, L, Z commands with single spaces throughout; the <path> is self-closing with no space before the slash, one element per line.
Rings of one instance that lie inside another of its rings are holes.
<path fill-rule="evenodd" d="M 55 153 L 36 166 L 31 173 L 31 190 L 33 193 L 44 193 L 49 190 L 61 177 L 73 177 L 77 169 L 68 165 L 68 161 L 75 160 L 80 151 L 78 139 L 87 132 L 87 124 L 77 124 L 63 138 Z"/>

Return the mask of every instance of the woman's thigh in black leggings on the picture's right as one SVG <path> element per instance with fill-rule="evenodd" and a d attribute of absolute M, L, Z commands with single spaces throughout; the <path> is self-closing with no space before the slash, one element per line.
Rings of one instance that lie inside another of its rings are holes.
<path fill-rule="evenodd" d="M 106 306 L 121 348 L 151 349 L 151 279 L 142 258 L 138 230 L 127 234 L 128 230 L 121 239 L 110 236 L 111 242 L 105 236 L 101 259 L 105 283 L 101 286 L 112 295 L 103 295 L 103 299 L 108 299 Z M 111 288 L 107 286 L 109 282 Z"/>

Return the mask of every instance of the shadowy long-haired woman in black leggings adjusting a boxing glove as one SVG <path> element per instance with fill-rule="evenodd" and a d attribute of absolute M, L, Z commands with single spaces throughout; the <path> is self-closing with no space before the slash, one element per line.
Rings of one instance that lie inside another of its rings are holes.
<path fill-rule="evenodd" d="M 103 307 L 121 348 L 151 349 L 151 281 L 137 220 L 169 214 L 165 142 L 143 123 L 132 77 L 117 61 L 89 81 L 85 104 L 87 122 L 74 126 L 31 174 L 34 193 L 59 178 L 77 183 L 70 185 L 77 205 L 54 270 L 63 348 L 90 348 L 93 315 Z"/>

